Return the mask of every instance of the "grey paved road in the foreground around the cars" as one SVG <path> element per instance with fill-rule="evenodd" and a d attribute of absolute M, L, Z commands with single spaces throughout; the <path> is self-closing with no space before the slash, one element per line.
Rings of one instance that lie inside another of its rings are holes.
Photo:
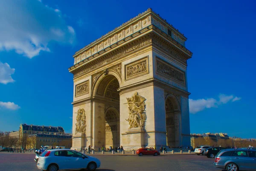
<path fill-rule="evenodd" d="M 0 153 L 0 171 L 40 171 L 31 153 Z M 101 168 L 96 171 L 222 171 L 214 159 L 198 155 L 96 156 Z"/>

